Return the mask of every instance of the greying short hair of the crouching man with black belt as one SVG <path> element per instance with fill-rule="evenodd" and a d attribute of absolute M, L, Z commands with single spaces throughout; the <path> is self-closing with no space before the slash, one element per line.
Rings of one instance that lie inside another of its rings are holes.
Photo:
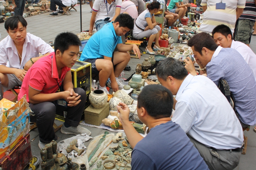
<path fill-rule="evenodd" d="M 168 57 L 162 59 L 162 61 L 156 66 L 156 75 L 164 81 L 167 80 L 168 76 L 172 76 L 178 80 L 183 80 L 188 75 L 188 71 L 179 60 Z"/>

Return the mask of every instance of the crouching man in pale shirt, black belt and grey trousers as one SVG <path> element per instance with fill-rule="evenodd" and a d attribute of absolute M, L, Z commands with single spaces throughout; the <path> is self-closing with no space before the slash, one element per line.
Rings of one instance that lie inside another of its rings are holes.
<path fill-rule="evenodd" d="M 205 76 L 188 74 L 174 58 L 162 60 L 156 75 L 176 95 L 172 121 L 187 133 L 209 169 L 234 169 L 240 160 L 243 130 L 217 86 Z"/>

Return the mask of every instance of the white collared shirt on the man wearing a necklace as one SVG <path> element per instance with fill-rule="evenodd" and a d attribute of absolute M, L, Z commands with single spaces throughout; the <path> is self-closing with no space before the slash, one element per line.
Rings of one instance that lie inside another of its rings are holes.
<path fill-rule="evenodd" d="M 54 49 L 47 43 L 45 43 L 41 38 L 27 33 L 25 42 L 23 44 L 22 59 L 20 64 L 20 59 L 18 51 L 14 45 L 13 40 L 8 35 L 0 42 L 0 65 L 8 67 L 23 69 L 23 66 L 30 60 L 30 58 L 39 57 L 39 53 L 46 54 L 53 52 Z"/>

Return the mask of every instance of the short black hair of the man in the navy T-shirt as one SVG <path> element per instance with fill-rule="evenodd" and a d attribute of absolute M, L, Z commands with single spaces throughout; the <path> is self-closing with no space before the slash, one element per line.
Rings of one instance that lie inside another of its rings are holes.
<path fill-rule="evenodd" d="M 172 114 L 172 92 L 162 85 L 145 86 L 138 97 L 138 108 L 144 107 L 148 115 L 155 118 L 166 118 Z"/>

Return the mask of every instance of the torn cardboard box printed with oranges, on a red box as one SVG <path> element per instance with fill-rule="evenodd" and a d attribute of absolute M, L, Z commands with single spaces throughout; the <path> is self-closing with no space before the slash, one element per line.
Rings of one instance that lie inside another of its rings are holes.
<path fill-rule="evenodd" d="M 16 104 L 3 98 L 0 101 L 0 158 L 5 156 L 30 130 L 29 104 L 23 96 Z"/>

